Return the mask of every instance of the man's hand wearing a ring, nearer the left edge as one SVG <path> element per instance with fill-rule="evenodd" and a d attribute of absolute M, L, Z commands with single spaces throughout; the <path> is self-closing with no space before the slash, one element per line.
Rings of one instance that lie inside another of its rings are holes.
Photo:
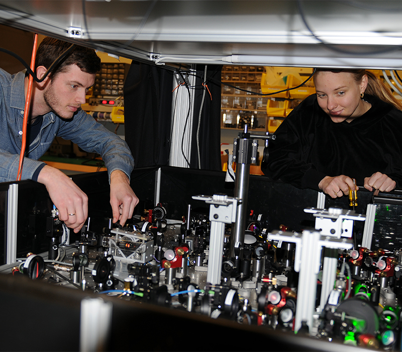
<path fill-rule="evenodd" d="M 88 197 L 70 178 L 57 168 L 46 165 L 39 172 L 50 199 L 59 211 L 59 219 L 77 233 L 88 216 Z"/>

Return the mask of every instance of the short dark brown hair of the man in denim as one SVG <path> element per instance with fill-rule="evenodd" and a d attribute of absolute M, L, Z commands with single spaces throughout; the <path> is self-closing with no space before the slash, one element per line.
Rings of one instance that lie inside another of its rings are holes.
<path fill-rule="evenodd" d="M 36 52 L 35 69 L 45 66 L 47 69 L 64 51 L 71 46 L 63 40 L 45 37 Z M 100 58 L 95 50 L 76 45 L 72 51 L 52 70 L 51 77 L 55 78 L 60 72 L 67 70 L 69 65 L 76 64 L 81 71 L 95 74 L 100 70 Z"/>

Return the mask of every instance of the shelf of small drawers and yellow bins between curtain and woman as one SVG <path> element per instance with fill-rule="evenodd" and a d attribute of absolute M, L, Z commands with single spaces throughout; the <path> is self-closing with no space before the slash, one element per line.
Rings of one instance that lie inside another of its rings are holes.
<path fill-rule="evenodd" d="M 242 127 L 226 126 L 251 126 L 253 121 L 253 125 L 258 128 L 249 127 L 250 130 L 274 132 L 300 98 L 314 91 L 314 86 L 310 83 L 293 93 L 286 91 L 272 96 L 260 94 L 275 93 L 296 86 L 303 82 L 300 81 L 303 75 L 310 73 L 311 68 L 274 67 L 266 70 L 261 66 L 224 66 L 222 83 L 229 83 L 230 86 L 222 84 L 221 127 L 240 130 Z M 238 79 L 233 79 L 234 75 Z"/>

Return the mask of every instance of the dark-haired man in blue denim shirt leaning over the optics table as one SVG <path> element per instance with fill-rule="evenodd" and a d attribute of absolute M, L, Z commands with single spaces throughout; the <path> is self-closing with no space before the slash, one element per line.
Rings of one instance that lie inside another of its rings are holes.
<path fill-rule="evenodd" d="M 45 38 L 36 53 L 37 77 L 44 76 L 69 46 Z M 130 187 L 134 159 L 126 142 L 80 109 L 99 69 L 100 59 L 95 51 L 76 46 L 42 82 L 34 81 L 32 89 L 21 179 L 44 184 L 59 210 L 60 220 L 74 232 L 87 218 L 87 196 L 63 172 L 38 161 L 56 136 L 102 156 L 109 172 L 113 222 L 120 220 L 124 225 L 138 203 Z M 0 182 L 17 179 L 28 79 L 25 71 L 10 75 L 0 69 Z"/>

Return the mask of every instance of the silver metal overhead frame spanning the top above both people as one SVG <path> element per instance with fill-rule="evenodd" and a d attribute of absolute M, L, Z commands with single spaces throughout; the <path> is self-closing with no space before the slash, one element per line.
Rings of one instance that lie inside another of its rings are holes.
<path fill-rule="evenodd" d="M 0 0 L 0 23 L 156 64 L 399 69 L 401 15 L 388 0 Z"/>

